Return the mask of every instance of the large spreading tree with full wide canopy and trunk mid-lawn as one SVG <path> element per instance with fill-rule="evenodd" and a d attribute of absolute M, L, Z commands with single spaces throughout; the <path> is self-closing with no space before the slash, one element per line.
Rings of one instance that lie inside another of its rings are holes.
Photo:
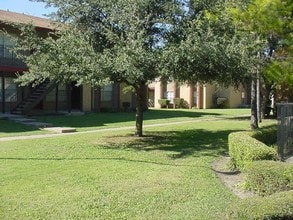
<path fill-rule="evenodd" d="M 150 81 L 238 85 L 249 71 L 247 38 L 224 13 L 229 1 L 37 1 L 57 8 L 65 30 L 46 39 L 24 32 L 20 50 L 33 53 L 24 58 L 29 72 L 20 81 L 124 82 L 136 93 L 138 136 Z"/>

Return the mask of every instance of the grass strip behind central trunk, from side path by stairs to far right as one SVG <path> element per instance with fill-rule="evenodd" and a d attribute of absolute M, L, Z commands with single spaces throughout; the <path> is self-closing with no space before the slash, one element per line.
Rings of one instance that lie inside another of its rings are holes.
<path fill-rule="evenodd" d="M 209 110 L 189 110 L 189 109 L 150 109 L 144 113 L 144 124 L 157 124 L 165 122 L 189 121 L 200 118 L 215 116 L 235 116 L 247 115 L 249 109 L 209 109 Z M 52 123 L 55 126 L 74 127 L 78 131 L 96 130 L 109 127 L 134 126 L 134 112 L 119 113 L 91 113 L 84 116 L 39 116 L 35 117 L 41 122 Z"/>

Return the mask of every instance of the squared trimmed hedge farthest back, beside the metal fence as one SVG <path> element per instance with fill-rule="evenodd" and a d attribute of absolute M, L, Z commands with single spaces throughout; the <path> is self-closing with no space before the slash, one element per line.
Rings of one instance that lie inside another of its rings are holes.
<path fill-rule="evenodd" d="M 277 150 L 251 137 L 249 132 L 234 132 L 228 137 L 229 155 L 235 168 L 256 160 L 277 160 Z"/>

